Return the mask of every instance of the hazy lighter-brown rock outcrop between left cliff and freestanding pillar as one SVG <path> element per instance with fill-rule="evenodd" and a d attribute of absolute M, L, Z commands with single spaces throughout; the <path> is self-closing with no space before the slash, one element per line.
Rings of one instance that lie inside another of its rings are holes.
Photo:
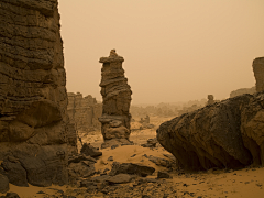
<path fill-rule="evenodd" d="M 101 128 L 98 118 L 102 113 L 102 103 L 98 103 L 90 95 L 82 97 L 80 92 L 68 92 L 67 112 L 70 123 L 76 123 L 78 133 L 88 133 Z"/>

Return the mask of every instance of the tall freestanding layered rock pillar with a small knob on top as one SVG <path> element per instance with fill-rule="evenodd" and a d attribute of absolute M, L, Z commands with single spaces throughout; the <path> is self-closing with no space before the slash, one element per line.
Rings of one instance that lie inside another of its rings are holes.
<path fill-rule="evenodd" d="M 99 121 L 102 123 L 101 132 L 105 143 L 112 139 L 129 140 L 131 133 L 132 91 L 128 85 L 128 78 L 124 77 L 123 61 L 123 57 L 118 56 L 116 50 L 110 52 L 109 57 L 101 57 L 99 61 L 103 64 L 100 82 L 103 102 L 102 116 Z"/>

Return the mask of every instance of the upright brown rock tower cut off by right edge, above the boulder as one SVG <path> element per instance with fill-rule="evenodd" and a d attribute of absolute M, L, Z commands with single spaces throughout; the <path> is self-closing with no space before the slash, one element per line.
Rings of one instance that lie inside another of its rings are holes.
<path fill-rule="evenodd" d="M 253 72 L 256 79 L 256 91 L 264 90 L 264 57 L 253 61 Z"/>

